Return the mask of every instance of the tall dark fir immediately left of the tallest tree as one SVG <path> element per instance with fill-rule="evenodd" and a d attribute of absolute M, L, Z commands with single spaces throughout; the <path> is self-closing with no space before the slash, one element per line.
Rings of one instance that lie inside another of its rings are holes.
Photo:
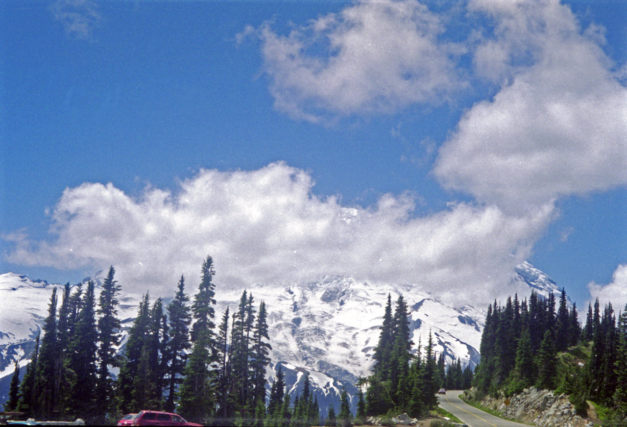
<path fill-rule="evenodd" d="M 166 347 L 167 369 L 169 393 L 166 400 L 166 411 L 174 411 L 174 396 L 179 377 L 182 376 L 187 360 L 187 350 L 191 348 L 189 342 L 189 325 L 191 323 L 190 308 L 187 305 L 189 296 L 185 293 L 185 278 L 181 279 L 177 285 L 174 300 L 167 305 L 169 314 L 169 341 Z"/>

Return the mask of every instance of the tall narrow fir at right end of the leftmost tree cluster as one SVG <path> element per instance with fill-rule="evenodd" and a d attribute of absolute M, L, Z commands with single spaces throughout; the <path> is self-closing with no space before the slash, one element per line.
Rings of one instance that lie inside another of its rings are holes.
<path fill-rule="evenodd" d="M 98 415 L 105 416 L 113 407 L 113 380 L 109 366 L 118 367 L 119 361 L 115 357 L 115 349 L 120 344 L 120 320 L 117 317 L 119 301 L 117 295 L 122 287 L 113 280 L 115 269 L 108 271 L 107 278 L 102 284 L 102 292 L 98 300 L 98 382 L 97 403 Z"/>

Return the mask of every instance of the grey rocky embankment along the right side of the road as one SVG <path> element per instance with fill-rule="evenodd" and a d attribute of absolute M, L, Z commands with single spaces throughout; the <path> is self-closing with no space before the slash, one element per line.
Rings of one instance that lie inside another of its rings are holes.
<path fill-rule="evenodd" d="M 517 419 L 522 423 L 533 423 L 542 427 L 583 427 L 589 419 L 578 416 L 567 394 L 556 396 L 552 391 L 529 387 L 520 394 L 508 398 L 485 397 L 483 406 L 495 409 L 505 418 Z"/>

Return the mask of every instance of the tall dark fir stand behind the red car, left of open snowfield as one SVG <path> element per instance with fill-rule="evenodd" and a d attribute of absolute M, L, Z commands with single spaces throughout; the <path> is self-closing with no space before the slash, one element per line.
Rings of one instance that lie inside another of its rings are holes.
<path fill-rule="evenodd" d="M 215 271 L 208 256 L 192 300 L 183 276 L 166 307 L 161 298 L 151 303 L 144 295 L 118 354 L 121 287 L 114 274 L 111 267 L 98 298 L 93 281 L 73 292 L 66 284 L 58 310 L 53 289 L 21 381 L 16 361 L 6 411 L 107 424 L 141 409 L 176 410 L 203 424 L 265 425 L 271 349 L 265 303 L 256 306 L 244 291 L 237 311 L 229 315 L 227 308 L 216 328 Z"/>

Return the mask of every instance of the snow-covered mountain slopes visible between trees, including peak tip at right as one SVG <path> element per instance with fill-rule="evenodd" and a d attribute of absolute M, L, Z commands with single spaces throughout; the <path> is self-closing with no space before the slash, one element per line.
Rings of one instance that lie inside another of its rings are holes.
<path fill-rule="evenodd" d="M 514 281 L 524 282 L 542 295 L 560 291 L 551 278 L 528 263 L 519 266 L 516 273 Z M 100 275 L 94 278 L 97 293 L 100 279 Z M 127 331 L 137 315 L 142 295 L 126 293 L 122 286 L 119 317 Z M 53 288 L 61 296 L 61 284 L 32 281 L 14 273 L 0 275 L 0 403 L 8 397 L 13 361 L 17 358 L 21 366 L 28 364 Z M 188 291 L 193 293 L 192 288 Z M 273 379 L 275 368 L 281 363 L 290 391 L 299 392 L 307 372 L 321 406 L 339 402 L 342 387 L 353 394 L 357 378 L 369 375 L 387 295 L 391 295 L 393 305 L 398 295 L 403 295 L 408 303 L 416 345 L 421 342 L 424 347 L 431 332 L 436 352 L 444 354 L 447 362 L 460 357 L 462 364 L 474 366 L 479 359 L 485 308 L 453 308 L 409 285 L 374 285 L 327 276 L 287 287 L 256 284 L 248 292 L 256 304 L 263 300 L 268 307 L 272 345 L 268 377 Z M 235 310 L 240 296 L 240 290 L 224 291 L 218 284 L 216 318 L 226 306 L 231 312 Z"/>

